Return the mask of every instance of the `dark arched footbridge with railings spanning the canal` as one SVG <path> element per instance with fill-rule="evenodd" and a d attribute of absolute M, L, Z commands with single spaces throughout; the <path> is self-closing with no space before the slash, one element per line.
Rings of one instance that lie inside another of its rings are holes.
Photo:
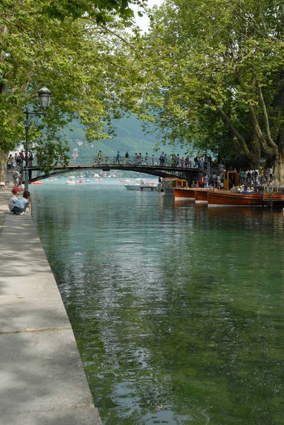
<path fill-rule="evenodd" d="M 124 170 L 124 171 L 136 171 L 138 173 L 150 174 L 152 176 L 159 177 L 178 177 L 179 179 L 186 179 L 189 183 L 198 181 L 200 174 L 208 172 L 207 169 L 200 169 L 195 167 L 181 166 L 181 164 L 161 164 L 157 161 L 157 164 L 139 164 L 133 163 L 132 161 L 125 161 L 125 159 L 116 160 L 110 158 L 108 162 L 106 159 L 102 159 L 102 163 L 97 164 L 69 164 L 67 166 L 57 165 L 50 174 L 44 174 L 40 171 L 40 166 L 30 166 L 30 182 L 47 179 L 50 176 L 56 174 L 67 173 L 70 171 L 82 171 L 82 170 Z M 36 174 L 36 176 L 35 176 Z"/>

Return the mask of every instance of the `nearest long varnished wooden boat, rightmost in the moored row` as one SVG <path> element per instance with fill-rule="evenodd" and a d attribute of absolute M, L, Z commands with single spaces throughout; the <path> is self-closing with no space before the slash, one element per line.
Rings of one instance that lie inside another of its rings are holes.
<path fill-rule="evenodd" d="M 229 191 L 208 192 L 208 207 L 261 207 L 263 204 L 281 205 L 284 203 L 284 193 L 251 192 L 239 193 Z"/>

